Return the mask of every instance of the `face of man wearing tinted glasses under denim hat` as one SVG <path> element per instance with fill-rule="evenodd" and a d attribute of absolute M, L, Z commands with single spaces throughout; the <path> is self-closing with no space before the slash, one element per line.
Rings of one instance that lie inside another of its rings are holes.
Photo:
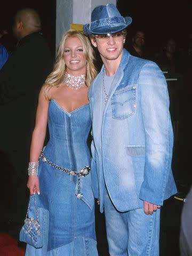
<path fill-rule="evenodd" d="M 114 34 L 95 35 L 91 38 L 91 42 L 95 47 L 98 47 L 103 61 L 117 60 L 122 56 L 125 39 L 122 31 L 120 31 Z"/>

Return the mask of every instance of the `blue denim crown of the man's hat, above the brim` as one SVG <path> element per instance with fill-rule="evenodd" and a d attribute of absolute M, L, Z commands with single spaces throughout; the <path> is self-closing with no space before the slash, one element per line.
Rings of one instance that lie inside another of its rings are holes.
<path fill-rule="evenodd" d="M 91 22 L 111 17 L 121 17 L 121 14 L 117 10 L 116 6 L 112 3 L 107 5 L 99 5 L 92 11 Z"/>

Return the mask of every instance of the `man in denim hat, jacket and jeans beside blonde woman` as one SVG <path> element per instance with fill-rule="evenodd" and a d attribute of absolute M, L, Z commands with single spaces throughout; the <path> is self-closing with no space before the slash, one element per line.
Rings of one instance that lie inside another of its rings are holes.
<path fill-rule="evenodd" d="M 103 61 L 89 91 L 93 191 L 105 206 L 110 255 L 157 256 L 159 208 L 177 193 L 169 96 L 158 66 L 123 48 L 131 21 L 107 4 L 84 25 Z"/>

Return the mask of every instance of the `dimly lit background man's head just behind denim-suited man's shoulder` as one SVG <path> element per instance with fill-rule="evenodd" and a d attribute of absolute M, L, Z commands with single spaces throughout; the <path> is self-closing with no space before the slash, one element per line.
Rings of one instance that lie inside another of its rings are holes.
<path fill-rule="evenodd" d="M 127 50 L 129 53 L 135 57 L 139 57 L 142 59 L 145 58 L 145 52 L 144 52 L 144 46 L 145 46 L 145 33 L 142 30 L 136 31 L 136 33 L 132 37 L 132 45 Z"/>

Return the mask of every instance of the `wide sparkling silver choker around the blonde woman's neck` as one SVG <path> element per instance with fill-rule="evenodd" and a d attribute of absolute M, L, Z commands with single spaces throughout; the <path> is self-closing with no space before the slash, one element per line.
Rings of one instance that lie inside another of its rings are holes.
<path fill-rule="evenodd" d="M 85 75 L 73 76 L 66 72 L 63 83 L 69 86 L 70 89 L 78 90 L 86 87 L 85 85 Z"/>

